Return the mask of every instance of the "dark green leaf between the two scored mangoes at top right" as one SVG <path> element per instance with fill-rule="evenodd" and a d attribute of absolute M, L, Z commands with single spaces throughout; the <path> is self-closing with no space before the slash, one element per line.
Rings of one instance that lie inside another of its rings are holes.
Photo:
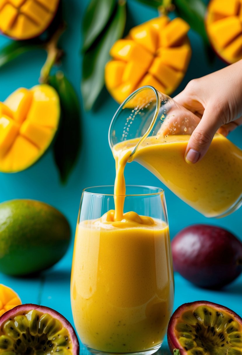
<path fill-rule="evenodd" d="M 178 16 L 187 21 L 190 27 L 200 34 L 208 43 L 208 36 L 205 30 L 204 17 L 206 5 L 202 0 L 174 0 Z"/>

